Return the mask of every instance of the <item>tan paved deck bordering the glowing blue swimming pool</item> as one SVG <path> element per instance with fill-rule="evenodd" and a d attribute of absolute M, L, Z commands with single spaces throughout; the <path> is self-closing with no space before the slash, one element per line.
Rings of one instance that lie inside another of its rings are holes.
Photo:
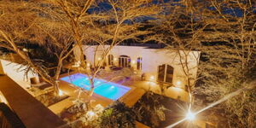
<path fill-rule="evenodd" d="M 61 74 L 60 78 L 66 77 L 68 75 L 72 75 L 74 73 L 76 72 Z M 61 113 L 62 109 L 69 108 L 70 106 L 72 106 L 73 105 L 73 102 L 71 100 L 72 97 L 79 96 L 79 91 L 78 91 L 78 89 L 80 89 L 79 87 L 73 84 L 69 84 L 66 81 L 62 81 L 62 80 L 60 80 L 59 84 L 60 84 L 61 91 L 66 95 L 70 96 L 70 98 L 67 98 L 66 100 L 63 100 L 61 102 L 58 102 L 50 106 L 49 109 L 54 113 Z M 125 93 L 124 96 L 121 96 L 119 98 L 119 101 L 125 102 L 125 104 L 128 107 L 132 107 L 141 98 L 141 96 L 143 96 L 143 94 L 145 93 L 145 90 L 139 89 L 133 86 L 129 86 L 129 87 L 131 88 L 131 90 Z M 82 91 L 82 93 L 80 94 L 80 98 L 82 98 L 85 102 L 87 102 L 89 99 L 88 91 L 87 90 Z M 102 107 L 107 107 L 108 105 L 114 102 L 106 97 L 99 96 L 95 93 L 93 94 L 91 99 L 92 99 L 92 107 L 96 107 L 97 104 L 101 104 Z"/>

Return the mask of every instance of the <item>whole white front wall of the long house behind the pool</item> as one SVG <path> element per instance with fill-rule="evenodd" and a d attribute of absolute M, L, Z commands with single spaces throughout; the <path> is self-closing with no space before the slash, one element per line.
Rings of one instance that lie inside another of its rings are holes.
<path fill-rule="evenodd" d="M 104 48 L 103 48 L 104 47 Z M 87 61 L 90 64 L 94 63 L 94 55 L 96 53 L 96 62 L 98 58 L 102 58 L 102 49 L 108 48 L 108 45 L 100 46 L 96 50 L 96 46 L 85 46 L 84 45 L 84 55 L 86 55 Z M 78 49 L 76 49 L 78 50 Z M 173 84 L 177 81 L 181 81 L 182 84 L 186 84 L 185 74 L 183 73 L 183 67 L 181 61 L 185 61 L 185 55 L 183 51 L 180 51 L 182 59 L 180 60 L 177 50 L 170 49 L 148 49 L 146 47 L 140 46 L 115 46 L 109 54 L 113 55 L 114 65 L 119 64 L 119 55 L 128 55 L 131 57 L 131 61 L 135 61 L 134 64 L 131 63 L 131 67 L 137 68 L 137 58 L 143 58 L 142 73 L 146 74 L 146 79 L 155 81 L 158 74 L 158 66 L 162 64 L 168 64 L 174 68 L 173 73 Z M 199 61 L 200 52 L 199 51 L 185 51 L 188 54 L 187 61 L 189 63 L 189 73 L 192 78 L 195 79 L 197 73 L 197 65 Z M 108 59 L 108 58 L 107 58 Z M 151 78 L 151 79 L 150 79 Z M 154 78 L 154 79 L 152 79 Z M 181 86 L 183 87 L 183 86 Z"/>

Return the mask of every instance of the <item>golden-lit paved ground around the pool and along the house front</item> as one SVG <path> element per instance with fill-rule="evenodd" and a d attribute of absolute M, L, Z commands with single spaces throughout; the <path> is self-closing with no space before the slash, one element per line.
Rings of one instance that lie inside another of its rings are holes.
<path fill-rule="evenodd" d="M 67 76 L 68 74 L 62 74 L 61 77 Z M 117 77 L 118 76 L 118 77 Z M 122 102 L 125 102 L 125 104 L 129 107 L 134 106 L 134 104 L 143 96 L 143 94 L 147 91 L 153 91 L 156 94 L 162 94 L 167 97 L 171 97 L 172 99 L 179 99 L 183 102 L 188 101 L 188 93 L 185 90 L 176 88 L 176 87 L 165 87 L 164 89 L 161 90 L 160 84 L 156 84 L 154 82 L 150 81 L 142 81 L 140 78 L 141 75 L 137 73 L 133 73 L 129 68 L 123 68 L 122 70 L 117 70 L 117 71 L 106 71 L 102 70 L 101 73 L 97 75 L 97 78 L 100 79 L 106 79 L 109 81 L 112 81 L 117 84 L 122 84 L 125 86 L 131 87 L 131 91 L 127 92 L 125 96 L 122 96 L 120 100 Z M 21 86 L 26 86 L 27 83 L 19 83 Z M 26 84 L 26 85 L 24 85 Z M 50 88 L 46 89 L 41 89 L 43 93 L 48 92 L 47 90 Z M 54 112 L 55 114 L 60 114 L 64 109 L 70 108 L 73 106 L 73 101 L 78 97 L 78 88 L 74 87 L 71 84 L 67 84 L 64 81 L 60 82 L 60 89 L 63 91 L 63 93 L 67 96 L 68 98 L 62 100 L 61 102 L 56 102 L 55 104 L 50 105 L 48 108 Z M 46 90 L 46 91 L 45 91 Z M 29 92 L 33 96 L 38 96 L 40 90 L 38 92 L 33 92 L 29 90 Z M 41 93 L 40 92 L 40 93 Z M 80 96 L 84 100 L 84 102 L 88 102 L 88 94 L 87 93 L 82 93 Z M 98 104 L 101 104 L 103 107 L 107 107 L 110 103 L 113 101 L 94 94 L 92 96 L 92 106 L 95 107 Z M 139 122 L 137 122 L 137 126 L 139 127 L 147 127 L 146 125 L 143 125 Z"/>

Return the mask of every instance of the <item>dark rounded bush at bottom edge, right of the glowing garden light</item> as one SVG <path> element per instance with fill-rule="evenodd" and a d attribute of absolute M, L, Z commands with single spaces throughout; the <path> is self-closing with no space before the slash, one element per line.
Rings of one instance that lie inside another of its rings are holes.
<path fill-rule="evenodd" d="M 131 108 L 125 106 L 123 102 L 113 102 L 112 105 L 105 108 L 99 117 L 99 127 L 106 128 L 132 128 L 136 127 L 136 113 Z"/>

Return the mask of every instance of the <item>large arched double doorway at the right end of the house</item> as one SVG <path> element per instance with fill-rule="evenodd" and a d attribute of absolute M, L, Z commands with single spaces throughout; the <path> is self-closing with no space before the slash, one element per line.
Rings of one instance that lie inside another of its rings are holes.
<path fill-rule="evenodd" d="M 158 67 L 157 80 L 159 82 L 172 83 L 173 70 L 174 70 L 174 68 L 170 65 L 166 65 L 166 64 L 160 65 Z"/>

